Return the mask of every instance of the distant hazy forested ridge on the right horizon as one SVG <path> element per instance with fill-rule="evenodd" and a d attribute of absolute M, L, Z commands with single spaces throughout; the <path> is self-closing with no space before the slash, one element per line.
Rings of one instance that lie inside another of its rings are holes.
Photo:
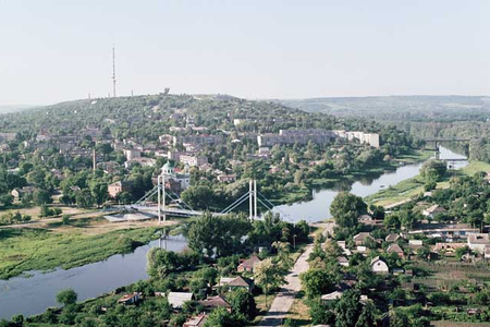
<path fill-rule="evenodd" d="M 389 121 L 481 121 L 490 118 L 490 97 L 485 96 L 324 97 L 278 101 L 308 112 Z"/>

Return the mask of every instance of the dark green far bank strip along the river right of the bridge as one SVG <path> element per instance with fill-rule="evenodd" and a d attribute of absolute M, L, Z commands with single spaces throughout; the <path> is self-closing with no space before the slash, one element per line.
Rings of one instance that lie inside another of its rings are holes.
<path fill-rule="evenodd" d="M 411 154 L 400 156 L 390 161 L 366 166 L 362 170 L 354 170 L 347 174 L 339 174 L 332 178 L 307 179 L 302 185 L 289 189 L 287 192 L 270 195 L 270 201 L 274 205 L 287 205 L 297 202 L 311 201 L 314 190 L 332 189 L 336 186 L 348 189 L 348 185 L 357 180 L 375 180 L 387 171 L 394 171 L 405 165 L 422 162 L 429 159 L 432 154 L 431 150 L 416 149 Z"/>

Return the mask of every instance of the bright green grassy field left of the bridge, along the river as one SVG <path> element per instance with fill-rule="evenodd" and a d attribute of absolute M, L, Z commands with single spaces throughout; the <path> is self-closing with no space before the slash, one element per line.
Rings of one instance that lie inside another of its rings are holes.
<path fill-rule="evenodd" d="M 85 229 L 85 228 L 84 228 Z M 128 228 L 87 234 L 78 228 L 0 229 L 0 278 L 28 270 L 64 269 L 95 263 L 155 238 L 161 227 Z"/>

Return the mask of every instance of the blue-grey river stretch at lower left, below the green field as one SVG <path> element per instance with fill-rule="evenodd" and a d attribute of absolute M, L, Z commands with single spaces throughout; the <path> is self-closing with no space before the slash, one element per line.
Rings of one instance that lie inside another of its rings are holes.
<path fill-rule="evenodd" d="M 164 244 L 169 251 L 175 252 L 187 247 L 184 237 L 169 237 L 161 246 Z M 137 247 L 133 253 L 113 255 L 103 262 L 47 274 L 29 271 L 30 278 L 0 280 L 0 318 L 11 318 L 20 313 L 42 313 L 48 306 L 57 305 L 56 294 L 65 288 L 74 289 L 78 300 L 83 301 L 146 279 L 146 253 L 155 246 L 159 246 L 158 240 Z"/>

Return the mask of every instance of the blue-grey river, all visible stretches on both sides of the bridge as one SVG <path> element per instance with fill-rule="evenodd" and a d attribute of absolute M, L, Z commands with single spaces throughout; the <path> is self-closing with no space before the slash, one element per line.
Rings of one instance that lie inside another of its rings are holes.
<path fill-rule="evenodd" d="M 441 148 L 441 158 L 461 158 L 461 156 Z M 311 201 L 278 206 L 275 210 L 284 214 L 284 219 L 291 221 L 324 220 L 331 217 L 329 207 L 339 191 L 367 196 L 417 175 L 421 165 L 403 166 L 377 178 L 360 179 L 352 185 L 341 183 L 329 190 L 314 191 Z M 460 162 L 458 167 L 462 166 L 464 164 Z M 180 252 L 186 245 L 183 237 L 170 237 L 167 241 L 169 251 Z M 130 254 L 113 255 L 106 261 L 69 270 L 57 269 L 47 274 L 33 271 L 29 272 L 33 275 L 29 278 L 14 277 L 0 280 L 0 318 L 11 318 L 20 313 L 25 316 L 42 313 L 47 307 L 57 305 L 56 294 L 62 289 L 72 288 L 78 294 L 78 301 L 83 301 L 146 279 L 148 278 L 146 253 L 154 246 L 159 246 L 159 241 L 139 246 Z"/>

